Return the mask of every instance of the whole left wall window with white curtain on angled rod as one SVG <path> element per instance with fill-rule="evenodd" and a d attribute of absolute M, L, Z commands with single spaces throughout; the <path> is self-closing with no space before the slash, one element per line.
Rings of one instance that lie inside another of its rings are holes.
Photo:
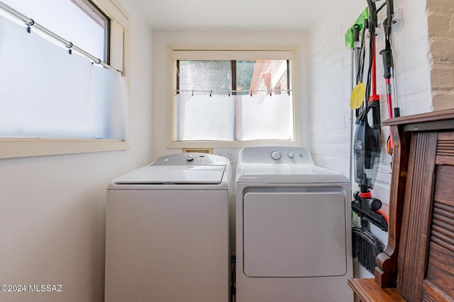
<path fill-rule="evenodd" d="M 111 0 L 2 1 L 122 73 L 0 9 L 0 158 L 127 149 L 128 13 Z"/>

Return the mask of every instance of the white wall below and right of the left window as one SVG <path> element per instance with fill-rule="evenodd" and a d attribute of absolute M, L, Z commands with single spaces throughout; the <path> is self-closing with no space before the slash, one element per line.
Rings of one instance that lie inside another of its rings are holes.
<path fill-rule="evenodd" d="M 131 13 L 128 151 L 0 160 L 1 284 L 62 284 L 62 293 L 1 301 L 103 301 L 106 185 L 151 161 L 152 31 Z"/>

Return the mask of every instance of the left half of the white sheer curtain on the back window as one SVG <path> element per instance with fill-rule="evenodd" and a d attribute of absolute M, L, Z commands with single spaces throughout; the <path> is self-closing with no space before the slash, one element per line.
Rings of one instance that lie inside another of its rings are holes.
<path fill-rule="evenodd" d="M 233 141 L 233 96 L 178 94 L 176 99 L 177 141 Z"/>

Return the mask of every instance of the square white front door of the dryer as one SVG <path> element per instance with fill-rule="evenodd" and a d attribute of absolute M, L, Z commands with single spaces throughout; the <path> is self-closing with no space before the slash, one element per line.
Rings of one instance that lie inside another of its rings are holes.
<path fill-rule="evenodd" d="M 328 277 L 347 272 L 341 192 L 248 192 L 243 203 L 248 277 Z"/>

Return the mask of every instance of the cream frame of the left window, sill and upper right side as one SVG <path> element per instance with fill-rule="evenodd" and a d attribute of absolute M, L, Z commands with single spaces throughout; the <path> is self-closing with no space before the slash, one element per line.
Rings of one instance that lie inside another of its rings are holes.
<path fill-rule="evenodd" d="M 109 65 L 122 71 L 130 86 L 130 16 L 116 0 L 89 0 L 109 22 Z M 31 16 L 33 18 L 33 16 Z M 65 37 L 70 38 L 70 37 Z M 128 89 L 129 91 L 129 89 Z M 129 92 L 128 92 L 129 93 Z M 128 137 L 128 135 L 126 135 Z M 128 139 L 48 139 L 0 137 L 0 159 L 129 149 Z"/>

